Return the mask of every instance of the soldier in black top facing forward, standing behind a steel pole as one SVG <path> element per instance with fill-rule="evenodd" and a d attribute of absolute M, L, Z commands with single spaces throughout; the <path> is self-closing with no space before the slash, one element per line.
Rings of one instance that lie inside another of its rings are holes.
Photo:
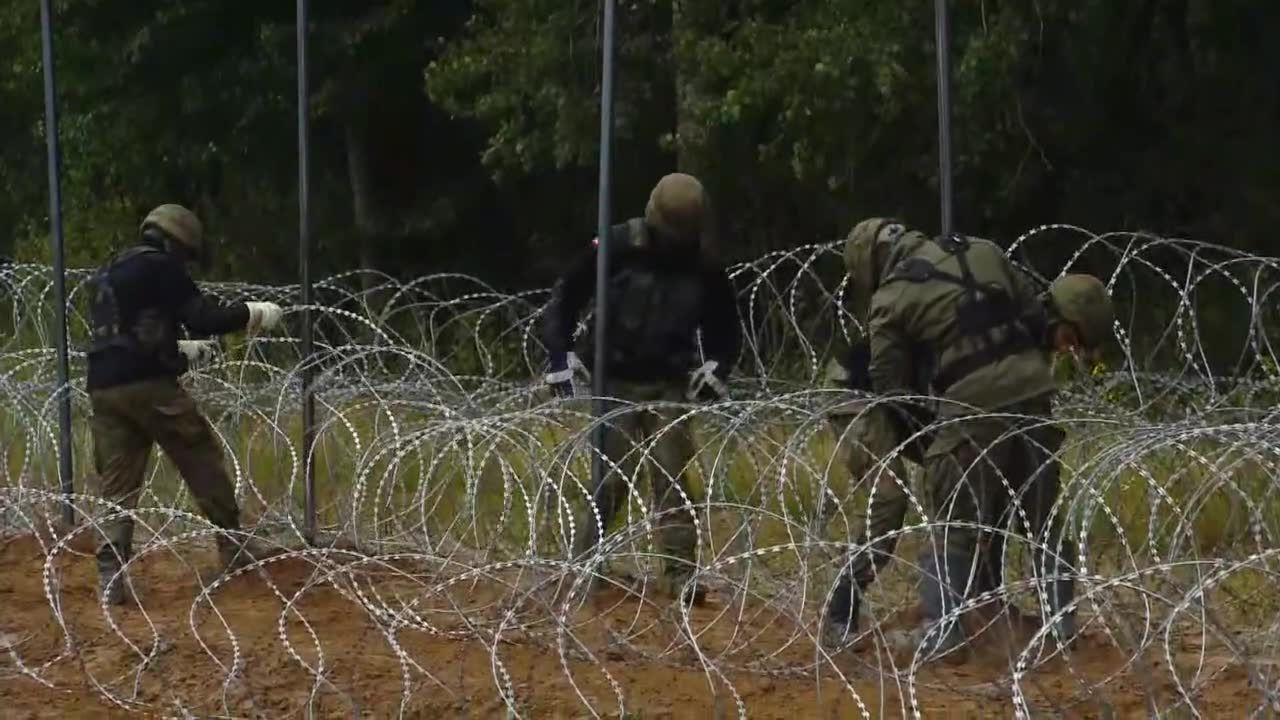
<path fill-rule="evenodd" d="M 714 258 L 712 217 L 701 183 L 687 174 L 663 177 L 643 218 L 613 225 L 609 234 L 608 387 L 613 404 L 605 427 L 605 473 L 593 503 L 575 523 L 575 555 L 600 542 L 627 497 L 639 461 L 650 454 L 649 483 L 663 514 L 660 544 L 668 556 L 666 589 L 701 603 L 705 591 L 690 583 L 696 566 L 694 509 L 686 482 L 695 454 L 685 410 L 660 404 L 724 397 L 726 380 L 741 342 L 737 306 L 728 274 Z M 588 378 L 591 342 L 572 351 L 579 313 L 595 291 L 595 245 L 556 283 L 544 314 L 550 355 L 547 383 L 558 396 L 573 393 L 573 379 Z M 699 356 L 701 332 L 704 356 Z M 653 404 L 636 405 L 630 404 Z M 599 516 L 593 511 L 596 509 Z"/>

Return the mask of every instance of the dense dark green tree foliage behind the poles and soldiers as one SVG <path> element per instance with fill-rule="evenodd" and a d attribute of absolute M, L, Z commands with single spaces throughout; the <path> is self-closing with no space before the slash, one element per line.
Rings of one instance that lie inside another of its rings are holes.
<path fill-rule="evenodd" d="M 545 283 L 594 229 L 599 4 L 316 0 L 320 272 Z M 292 3 L 61 0 L 69 259 L 163 201 L 214 273 L 297 268 Z M 1280 4 L 954 3 L 960 229 L 1149 229 L 1270 251 Z M 701 174 L 728 251 L 937 224 L 932 0 L 620 0 L 617 215 Z M 0 0 L 0 255 L 47 252 L 38 4 Z"/>

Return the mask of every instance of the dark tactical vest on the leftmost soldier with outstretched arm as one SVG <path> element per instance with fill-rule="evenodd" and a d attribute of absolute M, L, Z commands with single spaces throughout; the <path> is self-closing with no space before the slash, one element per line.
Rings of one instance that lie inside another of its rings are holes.
<path fill-rule="evenodd" d="M 174 333 L 169 313 L 160 307 L 138 307 L 133 323 L 125 325 L 115 293 L 116 288 L 111 282 L 111 273 L 120 264 L 150 252 L 160 252 L 160 250 L 148 246 L 125 250 L 99 268 L 90 279 L 88 352 L 118 347 L 159 360 L 165 366 L 180 372 L 183 369 L 182 356 L 178 352 L 178 337 Z"/>

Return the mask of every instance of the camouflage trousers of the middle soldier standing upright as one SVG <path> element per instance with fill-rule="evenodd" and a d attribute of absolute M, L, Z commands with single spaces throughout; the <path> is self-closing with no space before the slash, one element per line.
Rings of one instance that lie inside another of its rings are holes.
<path fill-rule="evenodd" d="M 623 402 L 611 402 L 604 419 L 604 471 L 594 488 L 591 505 L 579 516 L 575 532 L 575 555 L 581 557 L 600 542 L 600 529 L 608 529 L 639 482 L 641 464 L 648 466 L 653 497 L 652 512 L 659 516 L 660 552 L 666 556 L 664 574 L 678 584 L 696 568 L 698 534 L 689 470 L 696 450 L 687 409 L 631 407 L 625 402 L 681 401 L 678 388 L 666 386 L 623 384 L 611 387 L 609 395 Z M 682 495 L 684 493 L 684 495 Z M 687 501 L 685 498 L 689 498 Z"/>

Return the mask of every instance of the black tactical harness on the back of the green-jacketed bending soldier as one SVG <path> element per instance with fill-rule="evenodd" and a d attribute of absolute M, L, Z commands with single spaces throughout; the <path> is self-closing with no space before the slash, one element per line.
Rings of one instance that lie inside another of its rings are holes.
<path fill-rule="evenodd" d="M 963 337 L 978 341 L 979 350 L 963 355 L 937 368 L 932 386 L 936 392 L 946 393 L 947 388 L 972 373 L 992 365 L 1019 352 L 1038 347 L 1044 328 L 1042 307 L 1020 307 L 1011 296 L 1012 278 L 1007 286 L 996 282 L 979 282 L 969 268 L 966 254 L 972 245 L 963 236 L 941 238 L 937 245 L 956 259 L 960 274 L 940 270 L 924 258 L 908 258 L 899 263 L 886 284 L 890 282 L 923 283 L 942 281 L 960 286 L 964 299 L 956 307 L 956 328 Z M 1005 332 L 997 333 L 1004 329 Z M 1000 340 L 997 340 L 997 336 Z M 919 351 L 919 348 L 916 348 Z M 934 350 L 934 352 L 937 352 Z M 937 352 L 941 355 L 941 352 Z"/>

